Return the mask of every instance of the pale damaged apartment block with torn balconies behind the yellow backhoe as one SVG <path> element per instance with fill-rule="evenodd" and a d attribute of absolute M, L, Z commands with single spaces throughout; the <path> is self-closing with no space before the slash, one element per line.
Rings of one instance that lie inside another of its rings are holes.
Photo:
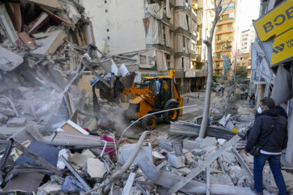
<path fill-rule="evenodd" d="M 81 3 L 93 23 L 97 47 L 105 54 L 130 58 L 125 64 L 128 70 L 135 71 L 136 82 L 176 70 L 181 93 L 204 88 L 207 70 L 202 35 L 209 28 L 204 28 L 207 13 L 203 10 L 206 4 L 213 3 L 203 0 Z"/>

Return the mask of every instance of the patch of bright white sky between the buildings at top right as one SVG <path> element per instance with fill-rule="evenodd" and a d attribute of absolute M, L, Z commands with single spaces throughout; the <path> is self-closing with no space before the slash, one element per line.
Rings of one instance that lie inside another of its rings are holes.
<path fill-rule="evenodd" d="M 258 18 L 260 12 L 260 0 L 241 0 L 241 7 L 239 13 L 239 31 L 249 29 L 252 20 Z"/>

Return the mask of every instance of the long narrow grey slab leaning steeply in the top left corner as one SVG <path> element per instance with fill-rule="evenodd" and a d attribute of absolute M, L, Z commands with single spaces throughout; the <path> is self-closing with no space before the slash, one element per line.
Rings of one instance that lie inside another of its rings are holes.
<path fill-rule="evenodd" d="M 6 10 L 4 3 L 1 3 L 0 5 L 0 22 L 4 26 L 6 33 L 8 37 L 10 38 L 11 42 L 13 42 L 13 44 L 15 45 L 20 44 L 20 39 L 17 36 L 17 33 L 13 26 L 13 22 L 10 20 L 10 17 L 8 15 L 8 12 Z"/>

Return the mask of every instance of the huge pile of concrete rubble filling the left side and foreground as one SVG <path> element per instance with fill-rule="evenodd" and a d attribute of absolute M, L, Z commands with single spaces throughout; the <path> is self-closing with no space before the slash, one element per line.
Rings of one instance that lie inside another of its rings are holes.
<path fill-rule="evenodd" d="M 200 118 L 172 123 L 156 139 L 117 137 L 128 103 L 118 91 L 135 79 L 123 64 L 135 55 L 105 56 L 90 44 L 78 1 L 0 9 L 1 194 L 253 194 L 253 159 L 233 117 L 219 118 L 205 139 L 197 138 Z"/>

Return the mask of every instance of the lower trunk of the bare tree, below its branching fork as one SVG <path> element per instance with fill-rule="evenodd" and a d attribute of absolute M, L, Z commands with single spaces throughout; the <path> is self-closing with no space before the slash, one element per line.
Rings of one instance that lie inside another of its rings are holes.
<path fill-rule="evenodd" d="M 206 44 L 208 57 L 208 78 L 206 81 L 206 98 L 204 99 L 204 116 L 202 117 L 202 125 L 200 126 L 200 137 L 204 138 L 206 133 L 206 125 L 209 119 L 209 104 L 211 102 L 211 86 L 213 84 L 213 56 L 211 44 Z"/>

